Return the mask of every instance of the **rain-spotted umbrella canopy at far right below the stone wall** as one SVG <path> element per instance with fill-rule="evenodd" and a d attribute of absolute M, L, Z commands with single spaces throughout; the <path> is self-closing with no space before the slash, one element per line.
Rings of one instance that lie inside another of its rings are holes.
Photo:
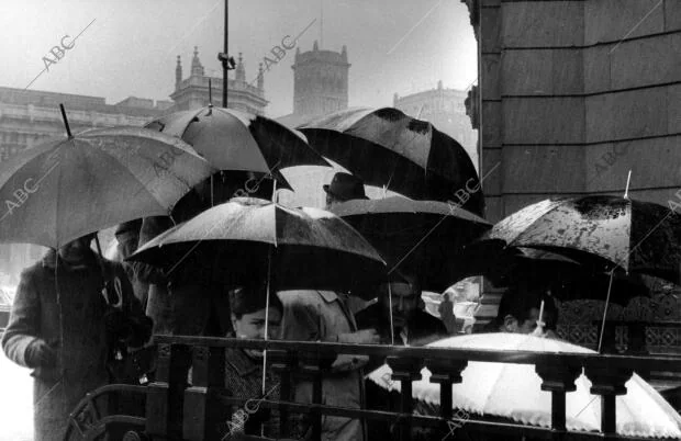
<path fill-rule="evenodd" d="M 568 257 L 585 251 L 627 272 L 672 282 L 681 276 L 681 215 L 649 202 L 603 195 L 548 199 L 502 219 L 487 238 Z"/>

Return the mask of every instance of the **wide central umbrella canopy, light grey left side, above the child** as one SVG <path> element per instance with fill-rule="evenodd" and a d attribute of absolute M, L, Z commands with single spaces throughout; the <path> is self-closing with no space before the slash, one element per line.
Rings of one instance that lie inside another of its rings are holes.
<path fill-rule="evenodd" d="M 378 251 L 332 213 L 242 197 L 170 228 L 129 259 L 174 268 L 194 255 L 219 261 L 234 283 L 267 276 L 271 263 L 277 290 L 350 289 L 387 271 Z"/>

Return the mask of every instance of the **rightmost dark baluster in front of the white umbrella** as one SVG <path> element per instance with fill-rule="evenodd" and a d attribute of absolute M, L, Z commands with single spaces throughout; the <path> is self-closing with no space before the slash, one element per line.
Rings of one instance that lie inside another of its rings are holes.
<path fill-rule="evenodd" d="M 605 436 L 617 433 L 617 395 L 626 395 L 626 382 L 634 371 L 630 369 L 613 368 L 605 359 L 588 360 L 584 374 L 591 381 L 591 393 L 601 396 L 601 431 Z"/>

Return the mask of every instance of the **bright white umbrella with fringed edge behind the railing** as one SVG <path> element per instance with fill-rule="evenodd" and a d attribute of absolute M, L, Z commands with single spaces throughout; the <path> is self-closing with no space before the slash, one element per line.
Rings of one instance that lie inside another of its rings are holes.
<path fill-rule="evenodd" d="M 523 350 L 536 352 L 594 353 L 590 349 L 559 340 L 518 333 L 478 333 L 453 337 L 429 347 L 460 349 Z M 368 375 L 379 386 L 401 391 L 400 382 L 389 381 L 384 364 Z M 439 384 L 429 383 L 431 372 L 412 384 L 412 396 L 428 405 L 439 404 Z M 453 408 L 480 415 L 510 418 L 540 427 L 551 425 L 551 394 L 542 391 L 542 378 L 528 364 L 469 362 L 461 373 L 462 383 L 453 385 Z M 591 382 L 582 374 L 577 391 L 566 396 L 567 428 L 571 431 L 598 431 L 601 400 L 590 394 Z M 681 437 L 681 416 L 637 374 L 626 383 L 627 394 L 617 396 L 617 433 L 632 437 Z"/>

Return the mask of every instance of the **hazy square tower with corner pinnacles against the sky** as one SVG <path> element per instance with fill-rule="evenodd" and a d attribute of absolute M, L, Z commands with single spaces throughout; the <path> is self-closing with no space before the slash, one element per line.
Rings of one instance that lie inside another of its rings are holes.
<path fill-rule="evenodd" d="M 337 53 L 320 50 L 315 41 L 312 50 L 295 52 L 293 66 L 293 113 L 322 115 L 347 109 L 347 48 Z"/>

